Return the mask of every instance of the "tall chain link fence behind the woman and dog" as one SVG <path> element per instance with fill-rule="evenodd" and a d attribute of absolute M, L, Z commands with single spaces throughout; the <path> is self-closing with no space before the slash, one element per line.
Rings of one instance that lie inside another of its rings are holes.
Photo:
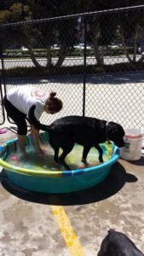
<path fill-rule="evenodd" d="M 6 91 L 32 85 L 63 101 L 43 123 L 77 114 L 144 129 L 144 6 L 5 24 L 0 41 Z"/>

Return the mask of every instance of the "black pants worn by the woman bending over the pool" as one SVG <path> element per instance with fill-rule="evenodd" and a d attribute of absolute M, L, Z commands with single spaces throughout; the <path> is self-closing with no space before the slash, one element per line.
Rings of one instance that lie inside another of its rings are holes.
<path fill-rule="evenodd" d="M 7 96 L 3 98 L 4 108 L 9 116 L 9 118 L 14 120 L 15 125 L 18 127 L 17 133 L 19 135 L 26 135 L 27 125 L 26 125 L 26 114 L 15 108 L 7 99 Z"/>

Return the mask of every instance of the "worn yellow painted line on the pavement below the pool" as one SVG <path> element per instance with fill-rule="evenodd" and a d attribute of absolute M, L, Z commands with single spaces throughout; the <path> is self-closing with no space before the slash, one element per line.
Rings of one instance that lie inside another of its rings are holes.
<path fill-rule="evenodd" d="M 49 202 L 52 202 L 52 198 L 49 198 Z M 59 201 L 60 202 L 60 201 Z M 54 201 L 53 201 L 54 203 Z M 56 221 L 60 227 L 60 231 L 64 240 L 66 241 L 66 245 L 70 250 L 72 256 L 84 256 L 84 249 L 81 246 L 78 236 L 74 232 L 70 220 L 66 216 L 66 212 L 64 207 L 61 206 L 53 206 L 51 205 L 51 209 L 55 215 Z"/>

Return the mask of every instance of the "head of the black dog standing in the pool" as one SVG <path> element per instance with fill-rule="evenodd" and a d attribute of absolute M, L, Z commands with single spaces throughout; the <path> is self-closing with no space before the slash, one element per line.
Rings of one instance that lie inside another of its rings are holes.
<path fill-rule="evenodd" d="M 111 140 L 118 148 L 124 147 L 124 129 L 121 125 L 109 122 L 106 127 L 107 138 Z"/>

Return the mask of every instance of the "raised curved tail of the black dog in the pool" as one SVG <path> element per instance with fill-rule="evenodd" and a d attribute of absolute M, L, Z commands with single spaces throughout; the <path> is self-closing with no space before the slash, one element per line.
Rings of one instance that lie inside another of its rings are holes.
<path fill-rule="evenodd" d="M 36 105 L 33 105 L 28 112 L 28 120 L 30 124 L 35 126 L 38 130 L 49 131 L 51 128 L 51 125 L 43 125 L 36 119 L 34 115 L 35 108 L 36 108 Z"/>

